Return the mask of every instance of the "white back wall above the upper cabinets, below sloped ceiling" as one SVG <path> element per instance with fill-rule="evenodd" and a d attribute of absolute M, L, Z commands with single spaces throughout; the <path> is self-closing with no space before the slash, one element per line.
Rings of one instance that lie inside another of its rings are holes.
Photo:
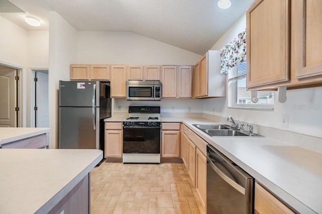
<path fill-rule="evenodd" d="M 201 56 L 132 32 L 77 32 L 78 64 L 194 65 Z"/>

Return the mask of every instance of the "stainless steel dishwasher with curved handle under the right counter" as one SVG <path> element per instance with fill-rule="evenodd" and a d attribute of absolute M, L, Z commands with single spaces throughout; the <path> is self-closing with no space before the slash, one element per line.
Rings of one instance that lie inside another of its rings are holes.
<path fill-rule="evenodd" d="M 254 213 L 254 178 L 207 145 L 207 213 Z"/>

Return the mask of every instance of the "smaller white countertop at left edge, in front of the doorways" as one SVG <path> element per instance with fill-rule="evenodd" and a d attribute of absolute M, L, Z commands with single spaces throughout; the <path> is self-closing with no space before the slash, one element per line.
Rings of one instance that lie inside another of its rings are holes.
<path fill-rule="evenodd" d="M 2 144 L 44 134 L 49 130 L 49 128 L 0 127 L 0 147 Z"/>

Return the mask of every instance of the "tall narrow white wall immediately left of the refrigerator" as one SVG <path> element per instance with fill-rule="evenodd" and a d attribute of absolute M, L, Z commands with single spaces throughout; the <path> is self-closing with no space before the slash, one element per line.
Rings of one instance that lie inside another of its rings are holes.
<path fill-rule="evenodd" d="M 58 148 L 58 86 L 76 62 L 77 32 L 56 12 L 49 12 L 49 23 L 49 148 Z"/>

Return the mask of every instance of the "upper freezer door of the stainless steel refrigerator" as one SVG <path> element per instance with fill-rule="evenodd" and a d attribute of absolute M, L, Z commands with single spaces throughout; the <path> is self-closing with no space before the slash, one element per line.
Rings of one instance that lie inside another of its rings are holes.
<path fill-rule="evenodd" d="M 99 106 L 97 84 L 97 81 L 59 81 L 59 106 Z"/>

